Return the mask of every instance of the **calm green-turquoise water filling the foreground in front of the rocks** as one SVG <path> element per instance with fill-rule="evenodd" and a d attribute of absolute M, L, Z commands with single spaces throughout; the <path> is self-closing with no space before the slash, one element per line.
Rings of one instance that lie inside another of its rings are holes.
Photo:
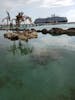
<path fill-rule="evenodd" d="M 0 100 L 75 100 L 75 37 L 38 33 L 10 41 L 0 31 Z"/>

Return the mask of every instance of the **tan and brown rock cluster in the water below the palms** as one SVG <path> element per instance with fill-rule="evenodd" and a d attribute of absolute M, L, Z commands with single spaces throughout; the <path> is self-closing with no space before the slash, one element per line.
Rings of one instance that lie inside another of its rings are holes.
<path fill-rule="evenodd" d="M 25 30 L 23 32 L 7 32 L 4 34 L 5 38 L 8 38 L 10 40 L 25 40 L 32 38 L 37 38 L 37 32 L 35 30 Z"/>

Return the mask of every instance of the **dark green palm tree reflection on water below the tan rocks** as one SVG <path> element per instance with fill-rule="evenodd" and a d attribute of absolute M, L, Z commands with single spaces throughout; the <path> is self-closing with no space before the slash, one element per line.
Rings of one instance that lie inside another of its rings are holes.
<path fill-rule="evenodd" d="M 18 41 L 18 44 L 16 41 L 13 41 L 13 45 L 11 45 L 9 49 L 9 52 L 12 52 L 13 55 L 16 55 L 17 53 L 20 53 L 21 55 L 27 55 L 32 53 L 32 51 L 33 47 L 23 44 L 21 40 Z"/>

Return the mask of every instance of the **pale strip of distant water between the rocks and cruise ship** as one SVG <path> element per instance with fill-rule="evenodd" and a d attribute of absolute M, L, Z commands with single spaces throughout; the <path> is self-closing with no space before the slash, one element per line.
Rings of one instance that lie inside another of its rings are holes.
<path fill-rule="evenodd" d="M 70 26 L 69 26 L 70 24 Z M 20 27 L 18 27 L 19 31 L 23 31 L 26 29 L 35 29 L 35 30 L 42 30 L 42 29 L 51 29 L 51 28 L 62 28 L 62 29 L 68 29 L 68 28 L 75 28 L 75 22 L 67 22 L 67 23 L 46 23 L 46 24 L 21 24 Z M 0 30 L 12 30 L 16 31 L 16 25 L 13 25 L 12 27 L 10 25 L 0 25 Z"/>

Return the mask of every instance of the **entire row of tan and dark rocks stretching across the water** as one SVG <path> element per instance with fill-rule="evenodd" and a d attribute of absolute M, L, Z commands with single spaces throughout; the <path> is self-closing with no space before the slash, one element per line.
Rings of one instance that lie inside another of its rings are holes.
<path fill-rule="evenodd" d="M 37 38 L 38 32 L 41 32 L 42 34 L 51 34 L 52 36 L 58 36 L 66 34 L 68 36 L 75 36 L 75 28 L 69 28 L 69 29 L 62 29 L 62 28 L 52 28 L 50 30 L 43 29 L 43 30 L 24 30 L 24 31 L 16 31 L 16 32 L 7 32 L 4 34 L 5 38 L 8 38 L 10 40 L 25 40 L 28 41 L 28 39 Z"/>

